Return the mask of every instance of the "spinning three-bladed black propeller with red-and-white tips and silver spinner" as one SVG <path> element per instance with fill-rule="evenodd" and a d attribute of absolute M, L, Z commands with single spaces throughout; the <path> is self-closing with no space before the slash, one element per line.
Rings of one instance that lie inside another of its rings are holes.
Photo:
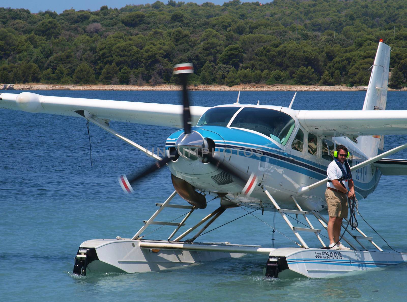
<path fill-rule="evenodd" d="M 169 156 L 164 157 L 162 160 L 157 161 L 144 171 L 136 174 L 133 177 L 127 178 L 126 175 L 121 175 L 118 177 L 120 186 L 122 187 L 123 191 L 126 193 L 133 193 L 132 185 L 134 185 L 138 180 L 144 178 L 145 176 L 149 175 L 157 171 L 158 169 L 164 167 L 167 163 L 169 163 L 172 159 L 176 159 L 179 154 L 188 153 L 186 157 L 193 158 L 201 158 L 202 162 L 210 163 L 215 167 L 219 167 L 225 172 L 228 172 L 232 175 L 235 180 L 242 185 L 244 185 L 242 193 L 245 195 L 250 195 L 252 193 L 254 187 L 256 187 L 257 177 L 256 175 L 252 174 L 249 179 L 246 179 L 247 176 L 243 173 L 239 173 L 236 169 L 221 163 L 218 159 L 216 159 L 212 152 L 213 150 L 209 150 L 206 148 L 208 143 L 205 141 L 203 137 L 199 135 L 196 131 L 191 132 L 191 113 L 189 108 L 189 99 L 188 99 L 188 89 L 187 89 L 187 76 L 190 73 L 193 73 L 193 65 L 190 63 L 184 64 L 177 64 L 174 66 L 173 74 L 179 76 L 180 83 L 182 84 L 182 104 L 183 104 L 183 126 L 184 126 L 184 133 L 180 135 L 177 139 L 176 147 L 177 148 L 170 148 L 169 149 Z M 182 150 L 182 152 L 181 152 Z M 206 151 L 206 152 L 205 152 Z"/>

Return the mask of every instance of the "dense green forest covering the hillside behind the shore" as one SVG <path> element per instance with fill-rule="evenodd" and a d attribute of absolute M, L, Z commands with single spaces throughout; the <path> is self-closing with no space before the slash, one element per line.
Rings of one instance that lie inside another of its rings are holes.
<path fill-rule="evenodd" d="M 297 21 L 298 20 L 298 21 Z M 297 26 L 298 22 L 298 26 Z M 0 83 L 367 85 L 379 39 L 407 80 L 405 0 L 233 0 L 31 13 L 0 8 Z"/>

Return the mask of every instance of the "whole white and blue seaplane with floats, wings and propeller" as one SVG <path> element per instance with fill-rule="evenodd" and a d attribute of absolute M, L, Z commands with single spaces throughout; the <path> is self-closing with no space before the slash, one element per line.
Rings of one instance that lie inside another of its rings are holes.
<path fill-rule="evenodd" d="M 321 233 L 327 229 L 326 169 L 334 159 L 335 146 L 342 144 L 349 150 L 356 192 L 350 202 L 351 216 L 357 212 L 357 200 L 372 193 L 382 175 L 407 175 L 406 160 L 387 158 L 407 148 L 407 143 L 383 152 L 384 135 L 407 133 L 407 111 L 385 110 L 389 59 L 390 47 L 381 40 L 362 110 L 294 110 L 295 95 L 288 107 L 240 104 L 239 96 L 228 105 L 190 106 L 187 76 L 193 66 L 188 63 L 174 67 L 174 75 L 183 86 L 182 105 L 22 92 L 0 93 L 0 108 L 86 119 L 156 159 L 145 171 L 118 177 L 127 193 L 135 191 L 134 184 L 141 178 L 162 167 L 168 166 L 171 172 L 174 191 L 156 204 L 157 211 L 133 237 L 92 239 L 80 244 L 74 257 L 76 274 L 151 272 L 260 254 L 265 255 L 265 276 L 341 276 L 407 261 L 407 253 L 384 251 L 350 221 L 351 217 L 344 219 L 341 235 L 350 250 L 330 250 Z M 168 136 L 161 154 L 155 154 L 113 130 L 112 121 L 180 129 Z M 187 203 L 172 204 L 177 194 Z M 218 198 L 219 207 L 197 224 L 183 228 L 191 215 L 199 215 L 206 207 L 208 198 Z M 278 212 L 295 235 L 294 246 L 196 242 L 224 211 L 236 207 Z M 164 209 L 171 208 L 186 210 L 181 221 L 156 220 Z M 307 225 L 294 226 L 290 214 L 304 217 Z M 321 229 L 314 227 L 315 223 L 321 224 Z M 166 239 L 144 238 L 143 232 L 154 224 L 175 229 Z M 315 234 L 314 247 L 306 243 L 303 232 Z"/>

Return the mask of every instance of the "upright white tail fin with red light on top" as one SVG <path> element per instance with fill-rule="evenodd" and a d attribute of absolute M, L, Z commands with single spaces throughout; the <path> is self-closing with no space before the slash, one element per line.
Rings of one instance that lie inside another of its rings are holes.
<path fill-rule="evenodd" d="M 362 110 L 386 110 L 389 63 L 390 46 L 379 42 Z M 369 157 L 383 152 L 384 135 L 363 136 L 358 141 L 359 148 Z"/>

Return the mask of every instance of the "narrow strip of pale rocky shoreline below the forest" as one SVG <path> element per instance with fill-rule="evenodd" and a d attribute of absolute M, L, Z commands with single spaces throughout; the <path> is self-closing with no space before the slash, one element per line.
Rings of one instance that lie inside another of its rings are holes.
<path fill-rule="evenodd" d="M 0 84 L 0 89 L 5 90 L 121 90 L 121 91 L 173 91 L 180 90 L 180 85 L 59 85 L 59 84 Z M 322 85 L 284 85 L 284 84 L 242 84 L 232 87 L 226 85 L 197 85 L 189 86 L 190 90 L 205 90 L 205 91 L 355 91 L 366 90 L 367 86 L 347 87 L 341 85 L 322 86 Z M 403 89 L 391 89 L 389 91 L 400 91 Z"/>

